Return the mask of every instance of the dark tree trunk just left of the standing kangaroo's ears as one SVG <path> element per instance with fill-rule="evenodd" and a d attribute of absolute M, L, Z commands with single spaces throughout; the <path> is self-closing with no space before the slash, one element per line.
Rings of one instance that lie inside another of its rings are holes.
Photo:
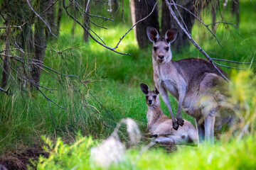
<path fill-rule="evenodd" d="M 156 4 L 156 0 L 132 0 L 131 1 L 131 11 L 132 11 L 132 23 L 136 23 L 140 19 L 149 15 L 152 11 L 154 4 Z M 154 9 L 154 12 L 146 18 L 146 20 L 140 22 L 135 27 L 135 35 L 137 38 L 137 42 L 140 48 L 146 47 L 149 45 L 149 40 L 146 36 L 146 27 L 152 26 L 159 30 L 159 21 L 158 21 L 158 8 Z"/>

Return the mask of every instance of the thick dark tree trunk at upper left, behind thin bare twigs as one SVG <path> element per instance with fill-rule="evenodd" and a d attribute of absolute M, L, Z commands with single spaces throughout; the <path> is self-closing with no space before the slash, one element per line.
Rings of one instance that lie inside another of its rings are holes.
<path fill-rule="evenodd" d="M 44 9 L 47 8 L 48 1 L 40 1 L 38 13 L 41 17 L 45 18 L 45 15 L 41 13 Z M 39 62 L 43 64 L 43 58 L 46 54 L 46 25 L 41 21 L 40 18 L 36 19 L 35 32 L 34 32 L 34 56 L 33 62 Z M 32 65 L 31 77 L 33 79 L 33 85 L 39 86 L 40 76 L 41 76 L 41 66 L 38 64 Z"/>

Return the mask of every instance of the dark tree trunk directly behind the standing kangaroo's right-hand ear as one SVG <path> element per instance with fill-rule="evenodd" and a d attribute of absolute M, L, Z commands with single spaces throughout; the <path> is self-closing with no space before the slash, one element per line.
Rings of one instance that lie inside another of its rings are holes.
<path fill-rule="evenodd" d="M 176 21 L 174 21 L 174 19 L 171 18 L 171 14 L 170 14 L 168 6 L 166 6 L 165 0 L 162 0 L 162 1 L 163 1 L 163 6 L 162 6 L 162 18 L 161 18 L 161 34 L 164 35 L 164 33 L 166 33 L 166 30 L 169 30 L 170 28 L 179 28 L 179 27 L 178 27 L 178 24 L 176 23 Z M 187 8 L 189 11 L 191 11 L 195 14 L 200 13 L 200 8 L 197 8 L 197 10 L 196 10 L 195 5 L 193 4 L 193 1 L 191 1 L 191 0 L 184 0 L 184 1 L 176 0 L 175 2 L 176 2 L 176 4 Z M 190 13 L 188 13 L 188 11 L 186 11 L 182 8 L 179 8 L 178 6 L 177 6 L 177 8 L 178 8 L 179 13 L 181 13 L 181 16 L 178 16 L 178 12 L 176 12 L 176 9 L 174 9 L 174 12 L 175 12 L 177 18 L 179 19 L 179 21 L 181 21 L 181 23 L 182 23 L 182 19 L 183 19 L 184 23 L 186 24 L 186 27 L 188 28 L 188 32 L 191 33 L 193 23 L 195 21 L 195 17 L 193 17 Z M 177 36 L 176 40 L 171 45 L 172 50 L 179 51 L 179 50 L 181 50 L 181 48 L 184 45 L 187 45 L 188 42 L 189 42 L 189 40 L 188 40 L 186 34 L 183 33 L 181 29 L 178 29 L 178 36 Z"/>

